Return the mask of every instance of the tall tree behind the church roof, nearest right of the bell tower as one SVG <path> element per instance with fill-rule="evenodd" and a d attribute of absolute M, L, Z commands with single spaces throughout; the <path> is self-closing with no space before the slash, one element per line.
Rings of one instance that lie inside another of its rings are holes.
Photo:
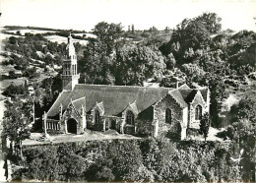
<path fill-rule="evenodd" d="M 98 23 L 94 29 L 96 38 L 90 38 L 79 61 L 79 70 L 85 75 L 86 83 L 114 84 L 113 57 L 123 44 L 121 24 Z"/>

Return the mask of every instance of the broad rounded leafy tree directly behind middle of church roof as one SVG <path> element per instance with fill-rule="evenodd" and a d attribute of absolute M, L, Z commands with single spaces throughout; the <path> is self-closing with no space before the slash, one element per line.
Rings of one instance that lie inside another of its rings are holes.
<path fill-rule="evenodd" d="M 116 85 L 142 86 L 149 78 L 160 80 L 165 69 L 160 52 L 146 46 L 130 46 L 118 50 L 115 65 Z"/>

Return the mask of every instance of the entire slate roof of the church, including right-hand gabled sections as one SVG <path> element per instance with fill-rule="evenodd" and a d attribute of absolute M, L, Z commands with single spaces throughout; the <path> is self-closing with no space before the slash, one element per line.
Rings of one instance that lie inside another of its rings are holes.
<path fill-rule="evenodd" d="M 167 94 L 170 94 L 179 105 L 187 107 L 198 90 L 193 89 L 171 89 L 171 88 L 147 88 L 131 86 L 103 86 L 78 84 L 73 91 L 62 91 L 52 107 L 47 112 L 48 117 L 54 117 L 59 113 L 62 103 L 63 110 L 73 101 L 78 112 L 82 104 L 86 112 L 91 111 L 96 103 L 104 110 L 104 115 L 114 116 L 120 114 L 129 104 L 135 107 L 138 113 L 154 105 Z M 207 98 L 207 90 L 200 90 L 204 99 Z M 101 103 L 100 103 L 101 102 Z M 85 106 L 86 105 L 86 106 Z M 102 106 L 101 106 L 102 105 Z M 133 106 L 135 105 L 135 106 Z"/>

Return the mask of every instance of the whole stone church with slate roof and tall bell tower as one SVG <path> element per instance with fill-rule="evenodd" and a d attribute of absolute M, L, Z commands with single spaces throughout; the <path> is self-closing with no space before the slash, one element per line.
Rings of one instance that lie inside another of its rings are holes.
<path fill-rule="evenodd" d="M 119 133 L 155 138 L 169 133 L 187 137 L 187 130 L 199 128 L 209 112 L 208 89 L 177 89 L 78 84 L 77 57 L 68 37 L 63 61 L 63 91 L 44 115 L 48 131 L 81 134 L 86 129 L 116 130 Z"/>

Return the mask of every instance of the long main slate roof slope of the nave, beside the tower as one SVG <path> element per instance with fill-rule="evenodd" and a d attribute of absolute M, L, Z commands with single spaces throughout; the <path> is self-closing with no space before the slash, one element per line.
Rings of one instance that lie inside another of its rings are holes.
<path fill-rule="evenodd" d="M 62 103 L 65 110 L 73 100 L 86 96 L 86 111 L 92 110 L 96 102 L 103 102 L 105 115 L 118 115 L 128 105 L 136 100 L 138 112 L 147 109 L 151 105 L 163 98 L 168 91 L 167 88 L 145 88 L 145 87 L 125 87 L 125 86 L 103 86 L 78 84 L 73 91 L 62 91 L 47 112 L 48 117 L 53 117 L 59 113 L 59 106 Z"/>

